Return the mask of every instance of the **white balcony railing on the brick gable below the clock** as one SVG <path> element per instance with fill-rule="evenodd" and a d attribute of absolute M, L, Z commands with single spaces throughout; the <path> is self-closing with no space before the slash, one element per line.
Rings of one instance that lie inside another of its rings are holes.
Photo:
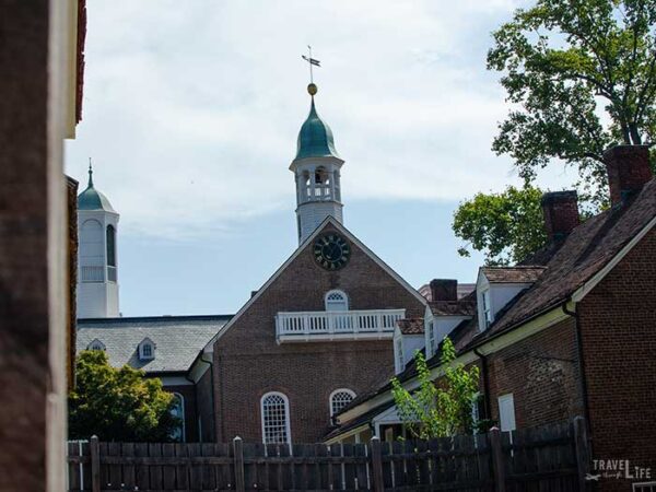
<path fill-rule="evenodd" d="M 406 309 L 278 313 L 276 336 L 283 341 L 391 338 Z"/>

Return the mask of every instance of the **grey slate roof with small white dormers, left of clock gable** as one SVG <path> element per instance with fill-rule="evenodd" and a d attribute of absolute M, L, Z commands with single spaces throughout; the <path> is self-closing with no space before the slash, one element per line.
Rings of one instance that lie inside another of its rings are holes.
<path fill-rule="evenodd" d="M 186 372 L 206 343 L 232 316 L 154 316 L 134 318 L 94 318 L 78 320 L 77 351 L 86 350 L 93 340 L 105 345 L 115 367 L 129 364 L 148 373 Z M 138 347 L 151 340 L 155 358 L 139 359 Z"/>

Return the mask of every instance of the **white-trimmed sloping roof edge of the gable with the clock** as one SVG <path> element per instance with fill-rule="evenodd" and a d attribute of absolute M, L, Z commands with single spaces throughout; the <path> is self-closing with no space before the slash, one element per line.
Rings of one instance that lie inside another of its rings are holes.
<path fill-rule="evenodd" d="M 262 293 L 273 283 L 273 281 L 280 277 L 280 274 L 286 269 L 286 267 L 296 259 L 302 251 L 326 229 L 326 226 L 330 224 L 335 229 L 337 229 L 341 234 L 347 236 L 349 241 L 351 241 L 355 246 L 358 246 L 366 256 L 368 256 L 376 265 L 378 265 L 383 270 L 385 270 L 391 278 L 394 278 L 401 286 L 403 286 L 408 292 L 410 292 L 421 304 L 426 305 L 426 300 L 419 293 L 419 291 L 412 285 L 410 285 L 401 276 L 399 276 L 396 271 L 394 271 L 385 261 L 378 258 L 370 248 L 367 248 L 364 243 L 362 243 L 351 231 L 343 226 L 343 224 L 339 223 L 335 218 L 328 215 L 324 222 L 319 224 L 319 226 L 307 238 L 301 243 L 301 245 L 294 250 L 294 253 L 285 260 L 284 263 L 276 270 L 276 272 L 265 282 L 265 284 L 258 289 L 247 302 L 242 306 L 242 308 L 233 316 L 233 318 L 208 342 L 206 349 L 211 350 L 211 345 L 219 340 L 223 335 L 231 329 L 231 327 L 236 323 L 239 317 L 244 313 L 248 311 L 248 308 L 262 295 Z"/>

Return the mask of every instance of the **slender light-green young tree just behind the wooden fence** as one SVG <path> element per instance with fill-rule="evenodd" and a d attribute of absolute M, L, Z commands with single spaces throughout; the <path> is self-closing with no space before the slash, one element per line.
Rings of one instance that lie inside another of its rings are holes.
<path fill-rule="evenodd" d="M 465 368 L 454 364 L 456 349 L 447 337 L 442 343 L 441 363 L 444 377 L 431 378 L 431 371 L 421 352 L 417 361 L 419 388 L 412 393 L 391 379 L 394 400 L 399 418 L 411 437 L 430 440 L 456 434 L 470 434 L 473 430 L 471 406 L 478 398 L 479 368 Z"/>

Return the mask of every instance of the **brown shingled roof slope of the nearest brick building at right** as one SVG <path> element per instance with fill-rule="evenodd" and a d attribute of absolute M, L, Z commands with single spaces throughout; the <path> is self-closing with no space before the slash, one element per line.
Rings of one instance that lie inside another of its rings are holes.
<path fill-rule="evenodd" d="M 578 225 L 560 247 L 548 246 L 546 250 L 551 256 L 542 274 L 473 342 L 517 326 L 566 301 L 610 263 L 635 236 L 653 227 L 655 218 L 656 179 L 652 179 L 630 201 Z"/>

